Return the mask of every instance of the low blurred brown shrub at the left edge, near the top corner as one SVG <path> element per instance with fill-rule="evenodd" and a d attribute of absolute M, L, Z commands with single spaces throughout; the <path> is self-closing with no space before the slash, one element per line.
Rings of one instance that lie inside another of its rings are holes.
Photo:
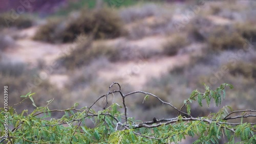
<path fill-rule="evenodd" d="M 16 27 L 18 29 L 29 28 L 33 25 L 33 20 L 29 15 L 18 15 L 13 17 L 11 12 L 0 14 L 0 28 Z"/>

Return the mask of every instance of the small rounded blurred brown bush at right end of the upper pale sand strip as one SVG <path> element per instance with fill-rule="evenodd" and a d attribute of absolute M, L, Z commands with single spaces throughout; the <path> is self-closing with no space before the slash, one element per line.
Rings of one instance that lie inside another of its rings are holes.
<path fill-rule="evenodd" d="M 176 55 L 188 43 L 184 35 L 176 34 L 163 45 L 163 53 L 168 56 Z"/>

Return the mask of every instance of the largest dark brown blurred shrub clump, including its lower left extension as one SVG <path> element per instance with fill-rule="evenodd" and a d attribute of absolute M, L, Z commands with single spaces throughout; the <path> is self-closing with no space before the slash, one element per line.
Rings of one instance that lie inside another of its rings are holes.
<path fill-rule="evenodd" d="M 83 9 L 76 16 L 70 15 L 66 21 L 53 21 L 41 26 L 35 39 L 72 42 L 80 34 L 93 34 L 96 39 L 116 38 L 125 34 L 122 27 L 120 17 L 109 8 Z"/>

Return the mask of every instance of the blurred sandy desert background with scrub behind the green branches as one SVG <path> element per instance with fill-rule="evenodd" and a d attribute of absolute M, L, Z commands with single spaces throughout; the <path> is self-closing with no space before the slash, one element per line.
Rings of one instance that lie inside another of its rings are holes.
<path fill-rule="evenodd" d="M 2 0 L 0 11 L 0 91 L 8 85 L 9 106 L 29 91 L 37 106 L 51 99 L 50 109 L 90 106 L 119 82 L 124 93 L 144 90 L 180 107 L 203 83 L 230 83 L 220 108 L 256 109 L 252 0 Z M 153 98 L 129 97 L 136 119 L 177 115 Z M 109 101 L 121 105 L 118 94 Z M 15 108 L 34 109 L 30 100 Z M 218 109 L 195 103 L 191 115 Z"/>

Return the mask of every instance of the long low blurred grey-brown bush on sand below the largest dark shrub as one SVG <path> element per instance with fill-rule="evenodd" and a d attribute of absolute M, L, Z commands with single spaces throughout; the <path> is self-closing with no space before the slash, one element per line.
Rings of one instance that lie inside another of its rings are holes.
<path fill-rule="evenodd" d="M 63 66 L 74 69 L 89 65 L 99 58 L 105 58 L 110 62 L 139 61 L 160 55 L 160 53 L 161 51 L 148 50 L 127 41 L 110 44 L 108 41 L 97 40 L 92 43 L 92 40 L 88 38 L 82 42 L 77 42 L 75 49 L 69 55 L 59 58 L 59 60 L 61 60 Z"/>

